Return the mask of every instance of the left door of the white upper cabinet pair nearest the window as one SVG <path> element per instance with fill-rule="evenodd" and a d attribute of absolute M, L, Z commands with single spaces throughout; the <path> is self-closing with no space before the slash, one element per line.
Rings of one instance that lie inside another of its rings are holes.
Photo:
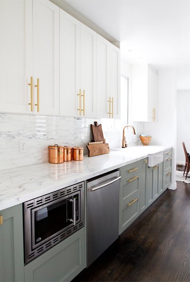
<path fill-rule="evenodd" d="M 97 99 L 97 117 L 109 117 L 108 103 L 108 77 L 109 77 L 109 42 L 97 34 L 97 58 L 96 58 L 96 99 Z M 110 116 L 111 117 L 111 116 Z"/>

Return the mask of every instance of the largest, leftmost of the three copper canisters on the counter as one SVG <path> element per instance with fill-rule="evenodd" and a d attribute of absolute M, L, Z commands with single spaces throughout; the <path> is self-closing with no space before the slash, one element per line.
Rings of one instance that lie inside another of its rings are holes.
<path fill-rule="evenodd" d="M 64 150 L 63 146 L 57 144 L 48 146 L 49 150 L 49 163 L 51 164 L 62 164 L 64 162 Z"/>

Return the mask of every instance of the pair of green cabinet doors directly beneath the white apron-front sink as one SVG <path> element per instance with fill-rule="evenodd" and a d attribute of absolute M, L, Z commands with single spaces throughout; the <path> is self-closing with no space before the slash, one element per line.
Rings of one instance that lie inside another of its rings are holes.
<path fill-rule="evenodd" d="M 147 206 L 153 203 L 163 189 L 163 163 L 147 168 Z"/>

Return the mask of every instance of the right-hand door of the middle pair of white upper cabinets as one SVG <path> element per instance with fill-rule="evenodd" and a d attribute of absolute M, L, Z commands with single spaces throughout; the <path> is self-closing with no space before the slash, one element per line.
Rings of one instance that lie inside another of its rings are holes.
<path fill-rule="evenodd" d="M 85 94 L 82 115 L 96 117 L 96 32 L 82 23 L 80 26 L 80 89 Z"/>

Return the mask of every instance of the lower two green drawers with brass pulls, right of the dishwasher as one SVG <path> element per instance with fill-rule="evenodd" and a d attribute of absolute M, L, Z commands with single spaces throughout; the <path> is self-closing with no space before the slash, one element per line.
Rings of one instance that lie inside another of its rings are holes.
<path fill-rule="evenodd" d="M 140 184 L 140 173 L 120 183 L 120 234 L 139 216 Z"/>

